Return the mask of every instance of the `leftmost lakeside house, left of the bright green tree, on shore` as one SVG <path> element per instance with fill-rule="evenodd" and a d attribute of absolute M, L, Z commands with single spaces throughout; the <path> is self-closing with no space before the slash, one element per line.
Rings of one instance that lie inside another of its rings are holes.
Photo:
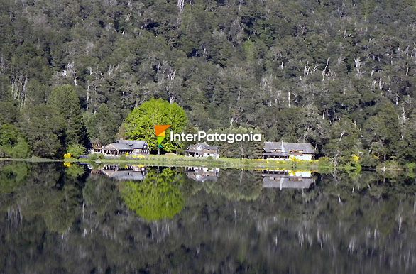
<path fill-rule="evenodd" d="M 148 154 L 148 143 L 146 141 L 136 140 L 119 140 L 115 143 L 102 148 L 102 153 L 105 155 L 125 155 L 125 154 Z"/>

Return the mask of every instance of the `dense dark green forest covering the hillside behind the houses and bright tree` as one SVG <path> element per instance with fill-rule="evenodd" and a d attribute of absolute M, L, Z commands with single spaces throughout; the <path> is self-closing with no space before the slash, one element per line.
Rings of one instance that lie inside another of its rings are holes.
<path fill-rule="evenodd" d="M 2 0 L 0 157 L 113 140 L 152 98 L 203 130 L 416 160 L 414 0 Z"/>

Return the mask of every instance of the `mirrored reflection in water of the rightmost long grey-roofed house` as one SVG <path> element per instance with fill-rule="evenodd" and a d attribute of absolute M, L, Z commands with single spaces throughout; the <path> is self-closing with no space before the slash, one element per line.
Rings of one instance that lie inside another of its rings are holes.
<path fill-rule="evenodd" d="M 308 189 L 313 183 L 310 171 L 263 170 L 263 187 Z"/>

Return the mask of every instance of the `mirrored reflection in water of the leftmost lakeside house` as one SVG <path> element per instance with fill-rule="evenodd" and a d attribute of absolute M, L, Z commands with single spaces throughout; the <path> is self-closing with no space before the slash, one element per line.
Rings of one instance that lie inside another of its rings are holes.
<path fill-rule="evenodd" d="M 144 180 L 148 174 L 147 168 L 141 165 L 104 165 L 101 172 L 116 180 L 134 181 Z"/>

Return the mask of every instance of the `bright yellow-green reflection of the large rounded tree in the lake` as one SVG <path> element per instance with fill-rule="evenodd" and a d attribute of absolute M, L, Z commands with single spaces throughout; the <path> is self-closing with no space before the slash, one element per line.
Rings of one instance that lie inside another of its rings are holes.
<path fill-rule="evenodd" d="M 151 171 L 143 182 L 122 182 L 121 197 L 129 209 L 148 221 L 172 218 L 184 206 L 181 177 L 169 168 Z"/>

